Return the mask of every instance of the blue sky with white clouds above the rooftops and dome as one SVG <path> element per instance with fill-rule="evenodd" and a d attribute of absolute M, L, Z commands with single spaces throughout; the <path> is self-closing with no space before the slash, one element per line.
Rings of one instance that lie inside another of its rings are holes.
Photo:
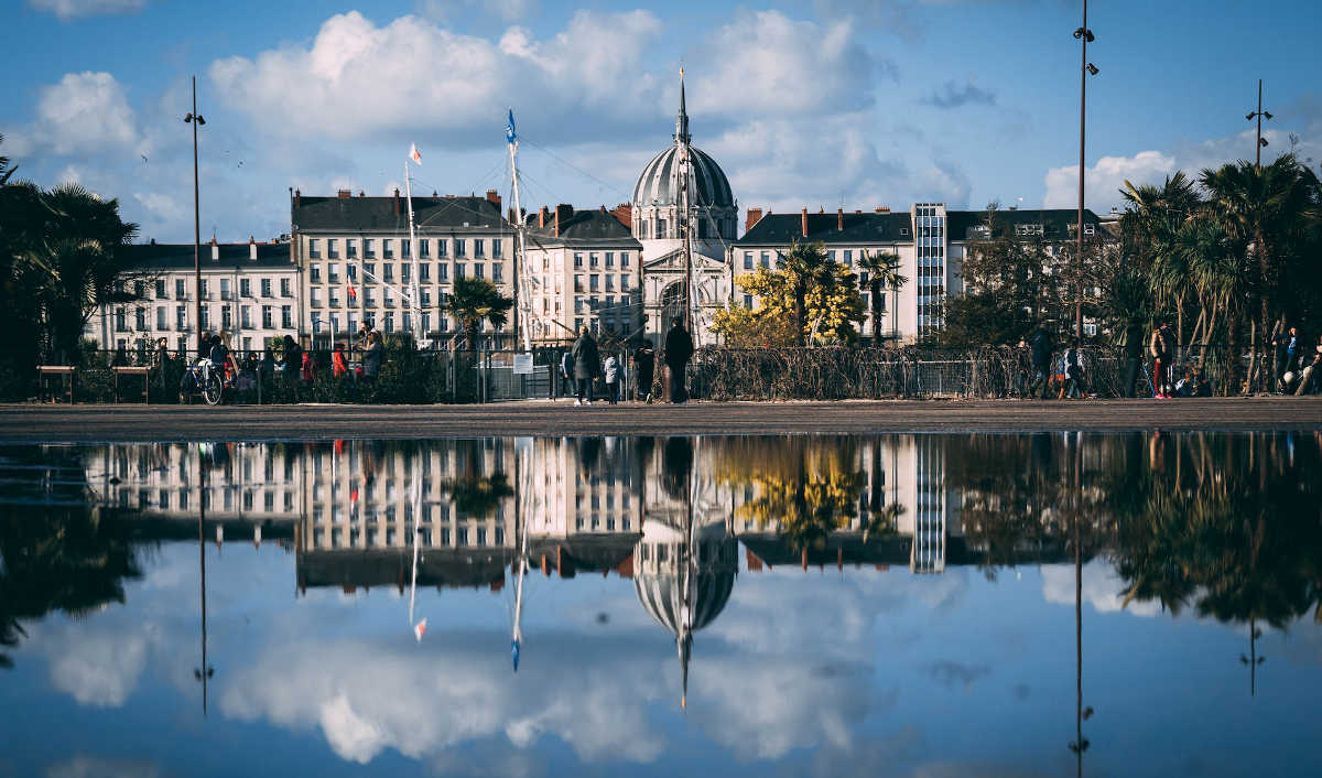
<path fill-rule="evenodd" d="M 192 237 L 197 77 L 204 239 L 290 230 L 290 189 L 629 200 L 672 143 L 678 70 L 693 142 L 740 210 L 915 201 L 1072 208 L 1076 0 L 0 0 L 0 132 L 17 177 L 119 198 L 139 238 Z M 1095 0 L 1087 202 L 1252 159 L 1322 160 L 1311 0 Z M 1309 75 L 1305 75 L 1309 74 Z M 742 222 L 742 220 L 740 220 Z"/>

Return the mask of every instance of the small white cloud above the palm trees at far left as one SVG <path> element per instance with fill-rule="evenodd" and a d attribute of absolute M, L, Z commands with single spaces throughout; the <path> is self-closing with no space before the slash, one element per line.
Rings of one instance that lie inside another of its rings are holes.
<path fill-rule="evenodd" d="M 38 94 L 32 124 L 13 131 L 16 155 L 127 153 L 141 142 L 124 87 L 110 73 L 66 73 Z"/>

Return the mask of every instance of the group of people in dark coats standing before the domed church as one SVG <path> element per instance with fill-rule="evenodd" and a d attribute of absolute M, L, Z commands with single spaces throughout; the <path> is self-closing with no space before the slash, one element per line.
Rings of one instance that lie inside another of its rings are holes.
<path fill-rule="evenodd" d="M 685 374 L 689 360 L 693 359 L 693 336 L 685 329 L 677 316 L 670 320 L 670 331 L 665 337 L 662 353 L 662 398 L 669 402 L 685 402 L 687 388 Z M 592 332 L 583 327 L 572 348 L 561 357 L 561 376 L 574 385 L 574 405 L 592 405 L 592 385 L 598 377 L 605 384 L 605 400 L 611 405 L 620 402 L 628 378 L 620 355 L 608 352 L 602 360 L 602 349 Z M 656 352 L 642 343 L 633 351 L 633 397 L 639 402 L 652 402 L 656 385 Z"/>

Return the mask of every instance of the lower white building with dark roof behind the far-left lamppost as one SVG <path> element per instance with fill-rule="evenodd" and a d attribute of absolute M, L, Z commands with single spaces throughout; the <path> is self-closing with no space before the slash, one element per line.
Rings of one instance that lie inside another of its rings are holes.
<path fill-rule="evenodd" d="M 127 246 L 120 290 L 131 302 L 103 304 L 85 335 L 104 349 L 155 349 L 161 337 L 184 353 L 197 348 L 196 277 L 192 243 Z M 230 348 L 260 351 L 297 336 L 301 315 L 299 269 L 283 242 L 204 243 L 200 254 L 204 332 L 223 333 Z"/>

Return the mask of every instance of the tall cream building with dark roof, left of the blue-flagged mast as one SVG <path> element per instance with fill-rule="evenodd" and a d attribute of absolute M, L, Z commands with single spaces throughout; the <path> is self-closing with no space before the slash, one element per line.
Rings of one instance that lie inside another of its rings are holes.
<path fill-rule="evenodd" d="M 426 341 L 459 344 L 461 328 L 447 312 L 455 279 L 492 282 L 506 296 L 514 288 L 514 228 L 501 213 L 496 191 L 485 197 L 414 197 L 416 257 L 408 238 L 408 204 L 390 197 L 290 198 L 291 241 L 307 300 L 303 331 L 320 348 L 348 341 L 360 323 L 390 332 L 412 332 L 422 319 Z M 418 267 L 416 307 L 408 300 Z M 484 325 L 481 345 L 510 345 L 508 332 Z M 471 344 L 473 347 L 479 344 Z"/>

